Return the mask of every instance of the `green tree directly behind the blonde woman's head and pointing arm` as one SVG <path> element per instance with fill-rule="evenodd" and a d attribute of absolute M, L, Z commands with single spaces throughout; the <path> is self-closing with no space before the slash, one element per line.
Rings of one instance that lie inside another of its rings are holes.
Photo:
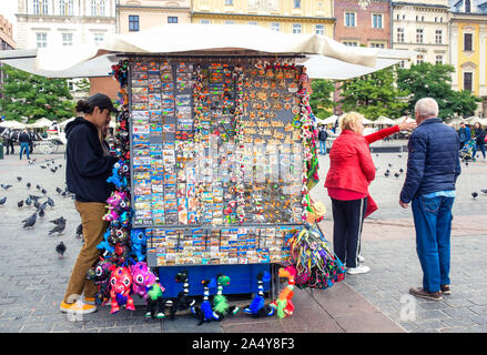
<path fill-rule="evenodd" d="M 395 77 L 395 68 L 392 67 L 344 81 L 338 103 L 344 112 L 357 111 L 369 120 L 379 115 L 399 118 L 407 106 L 404 98 L 409 92 L 396 87 Z"/>

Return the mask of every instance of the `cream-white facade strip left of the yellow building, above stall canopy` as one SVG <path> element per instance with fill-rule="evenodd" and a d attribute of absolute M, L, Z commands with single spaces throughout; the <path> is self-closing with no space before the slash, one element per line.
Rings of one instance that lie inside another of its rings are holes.
<path fill-rule="evenodd" d="M 116 0 L 116 32 L 136 32 L 166 23 L 190 23 L 190 0 Z"/>

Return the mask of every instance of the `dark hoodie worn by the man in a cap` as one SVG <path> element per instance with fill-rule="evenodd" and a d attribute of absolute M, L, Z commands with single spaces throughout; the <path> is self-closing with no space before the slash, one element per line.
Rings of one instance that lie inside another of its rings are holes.
<path fill-rule="evenodd" d="M 79 202 L 106 202 L 113 185 L 106 182 L 116 156 L 103 155 L 97 126 L 77 118 L 65 126 L 68 190 Z"/>

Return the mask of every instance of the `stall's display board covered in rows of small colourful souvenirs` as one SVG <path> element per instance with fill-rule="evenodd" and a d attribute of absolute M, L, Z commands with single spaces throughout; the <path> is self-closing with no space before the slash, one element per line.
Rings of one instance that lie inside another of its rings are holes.
<path fill-rule="evenodd" d="M 303 68 L 129 62 L 132 225 L 145 229 L 148 262 L 287 261 L 305 215 Z"/>

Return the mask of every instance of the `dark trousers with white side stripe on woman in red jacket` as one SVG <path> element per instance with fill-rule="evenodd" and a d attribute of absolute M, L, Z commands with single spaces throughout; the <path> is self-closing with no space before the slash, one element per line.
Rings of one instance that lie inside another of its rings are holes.
<path fill-rule="evenodd" d="M 346 267 L 358 266 L 362 226 L 367 197 L 341 201 L 332 199 L 333 250 Z"/>

